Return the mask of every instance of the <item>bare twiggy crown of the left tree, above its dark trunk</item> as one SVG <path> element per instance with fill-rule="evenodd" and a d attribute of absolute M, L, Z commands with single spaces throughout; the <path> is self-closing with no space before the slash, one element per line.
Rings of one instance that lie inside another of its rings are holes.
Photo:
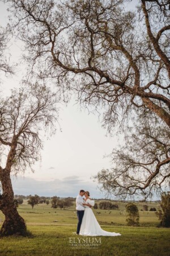
<path fill-rule="evenodd" d="M 40 159 L 40 136 L 47 129 L 54 132 L 57 120 L 57 96 L 49 88 L 29 84 L 13 89 L 0 100 L 1 166 L 17 173 Z"/>

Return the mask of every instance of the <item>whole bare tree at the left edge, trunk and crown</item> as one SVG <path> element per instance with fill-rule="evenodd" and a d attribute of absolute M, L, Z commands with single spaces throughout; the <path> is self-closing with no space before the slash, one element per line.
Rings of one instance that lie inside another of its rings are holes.
<path fill-rule="evenodd" d="M 55 130 L 56 102 L 56 94 L 37 83 L 14 89 L 10 97 L 0 100 L 0 209 L 5 214 L 2 235 L 26 232 L 25 222 L 16 210 L 10 176 L 27 168 L 32 170 L 32 164 L 40 159 L 42 134 Z"/>

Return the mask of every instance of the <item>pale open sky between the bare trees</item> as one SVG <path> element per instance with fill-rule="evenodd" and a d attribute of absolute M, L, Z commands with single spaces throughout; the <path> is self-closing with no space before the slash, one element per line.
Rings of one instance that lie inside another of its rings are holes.
<path fill-rule="evenodd" d="M 127 3 L 129 9 L 134 7 L 134 2 Z M 1 26 L 8 22 L 6 9 L 7 6 L 0 2 Z M 19 64 L 21 49 L 22 43 L 12 40 L 8 49 L 11 61 Z M 23 67 L 18 65 L 13 77 L 1 74 L 2 95 L 8 95 L 10 89 L 19 86 Z M 75 105 L 74 100 L 60 108 L 59 125 L 62 131 L 57 126 L 52 138 L 42 138 L 41 162 L 33 166 L 34 173 L 26 171 L 17 177 L 12 176 L 14 194 L 75 197 L 80 189 L 84 189 L 90 191 L 91 197 L 104 197 L 91 177 L 103 168 L 111 167 L 111 159 L 104 156 L 111 154 L 117 146 L 117 138 L 107 136 L 97 114 L 88 114 L 87 110 Z"/>

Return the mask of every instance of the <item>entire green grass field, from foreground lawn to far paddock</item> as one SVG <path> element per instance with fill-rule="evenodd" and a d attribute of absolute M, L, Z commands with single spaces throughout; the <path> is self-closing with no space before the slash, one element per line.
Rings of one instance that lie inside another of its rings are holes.
<path fill-rule="evenodd" d="M 158 205 L 151 203 L 150 207 Z M 77 223 L 74 207 L 61 210 L 39 204 L 32 209 L 24 201 L 18 211 L 32 236 L 1 238 L 0 255 L 170 255 L 170 229 L 156 228 L 159 221 L 154 212 L 139 211 L 140 226 L 133 228 L 126 226 L 125 203 L 119 203 L 119 208 L 94 213 L 104 230 L 122 236 L 93 238 L 73 234 Z M 3 219 L 0 212 L 0 225 Z"/>

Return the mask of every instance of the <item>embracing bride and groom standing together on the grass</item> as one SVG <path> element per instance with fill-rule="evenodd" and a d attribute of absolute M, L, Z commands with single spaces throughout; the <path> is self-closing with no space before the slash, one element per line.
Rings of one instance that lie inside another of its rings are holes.
<path fill-rule="evenodd" d="M 85 199 L 83 199 L 83 196 L 85 196 Z M 81 189 L 76 197 L 76 214 L 78 217 L 76 234 L 82 236 L 121 236 L 120 233 L 107 232 L 100 228 L 99 222 L 91 209 L 94 205 L 95 201 L 91 200 L 90 193 Z"/>

